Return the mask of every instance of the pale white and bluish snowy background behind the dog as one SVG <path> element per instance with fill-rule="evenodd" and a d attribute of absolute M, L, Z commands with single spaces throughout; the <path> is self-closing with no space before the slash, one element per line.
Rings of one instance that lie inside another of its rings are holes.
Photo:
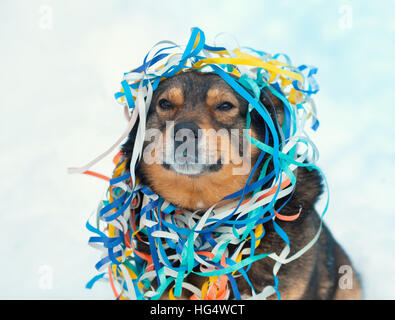
<path fill-rule="evenodd" d="M 66 168 L 123 131 L 113 100 L 122 73 L 157 41 L 186 43 L 198 26 L 208 40 L 227 31 L 319 68 L 321 127 L 312 139 L 331 190 L 325 220 L 360 271 L 365 297 L 394 299 L 394 4 L 139 3 L 0 3 L 0 298 L 113 298 L 108 284 L 84 288 L 98 259 L 84 225 L 105 185 Z M 111 167 L 109 157 L 95 169 Z"/>

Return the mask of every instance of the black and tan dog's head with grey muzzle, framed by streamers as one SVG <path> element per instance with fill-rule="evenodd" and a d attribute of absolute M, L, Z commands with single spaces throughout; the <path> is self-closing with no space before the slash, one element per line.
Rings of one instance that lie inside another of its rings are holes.
<path fill-rule="evenodd" d="M 281 100 L 264 89 L 261 102 L 281 125 Z M 247 112 L 248 102 L 216 74 L 188 71 L 161 81 L 147 115 L 137 176 L 167 201 L 190 210 L 206 209 L 242 189 L 260 153 L 247 134 L 260 141 L 268 134 L 255 110 L 246 132 Z M 136 133 L 137 126 L 123 146 L 128 157 Z M 271 143 L 272 137 L 266 138 Z"/>

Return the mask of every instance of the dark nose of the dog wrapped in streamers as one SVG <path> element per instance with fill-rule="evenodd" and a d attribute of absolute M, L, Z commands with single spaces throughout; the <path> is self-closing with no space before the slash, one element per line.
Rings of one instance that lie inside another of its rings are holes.
<path fill-rule="evenodd" d="M 193 145 L 193 158 L 197 158 L 200 127 L 193 122 L 180 122 L 174 126 L 174 149 L 186 142 L 186 145 Z M 187 156 L 187 149 L 183 150 L 183 156 Z"/>

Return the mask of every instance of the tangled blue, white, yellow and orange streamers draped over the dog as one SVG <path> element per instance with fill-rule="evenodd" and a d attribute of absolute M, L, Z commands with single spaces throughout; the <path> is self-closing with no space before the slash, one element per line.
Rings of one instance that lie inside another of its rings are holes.
<path fill-rule="evenodd" d="M 213 205 L 204 213 L 176 208 L 139 183 L 135 176 L 153 92 L 163 79 L 189 69 L 218 74 L 249 103 L 247 129 L 251 122 L 250 112 L 255 109 L 273 137 L 273 145 L 269 146 L 247 134 L 250 143 L 262 152 L 245 188 L 223 199 L 238 200 L 224 206 Z M 108 276 L 119 299 L 159 299 L 165 291 L 170 299 L 177 299 L 182 290 L 190 291 L 191 299 L 228 299 L 230 296 L 241 299 L 236 279 L 243 277 L 250 285 L 252 299 L 264 299 L 275 293 L 280 298 L 278 270 L 315 243 L 322 225 L 321 222 L 310 243 L 288 256 L 290 241 L 276 220 L 295 220 L 300 211 L 289 216 L 280 214 L 282 207 L 274 209 L 278 199 L 294 190 L 297 167 L 319 170 L 315 166 L 318 152 L 304 130 L 307 121 L 311 121 L 314 130 L 318 127 L 311 98 L 318 92 L 313 78 L 316 71 L 307 65 L 292 66 L 284 54 L 270 55 L 251 48 L 228 49 L 207 45 L 202 30 L 193 28 L 185 47 L 161 41 L 149 51 L 140 67 L 126 72 L 121 82 L 122 89 L 115 94 L 129 121 L 124 134 L 86 166 L 70 169 L 70 172 L 95 175 L 88 169 L 114 150 L 139 119 L 132 158 L 125 159 L 121 153 L 114 158 L 116 168 L 109 179 L 107 199 L 99 204 L 96 222 L 88 220 L 86 225 L 96 234 L 89 239 L 90 245 L 102 251 L 102 257 L 96 264 L 100 273 L 87 287 Z M 284 121 L 279 134 L 273 122 L 276 120 L 260 102 L 263 88 L 270 90 L 284 104 Z M 296 152 L 298 146 L 303 146 L 304 151 L 298 149 Z M 273 170 L 267 172 L 267 165 L 263 165 L 257 181 L 250 183 L 265 153 L 270 155 Z M 127 167 L 129 161 L 130 167 Z M 270 187 L 262 189 L 268 183 Z M 251 198 L 246 199 L 245 195 L 251 192 Z M 328 201 L 321 217 L 326 212 Z M 269 221 L 284 240 L 284 248 L 280 255 L 257 255 L 255 249 L 265 241 L 265 224 Z M 149 246 L 150 254 L 137 250 L 139 241 Z M 229 250 L 229 245 L 236 249 Z M 276 261 L 273 284 L 256 292 L 247 272 L 254 262 L 264 258 Z M 190 274 L 205 277 L 201 288 L 187 281 Z"/>

